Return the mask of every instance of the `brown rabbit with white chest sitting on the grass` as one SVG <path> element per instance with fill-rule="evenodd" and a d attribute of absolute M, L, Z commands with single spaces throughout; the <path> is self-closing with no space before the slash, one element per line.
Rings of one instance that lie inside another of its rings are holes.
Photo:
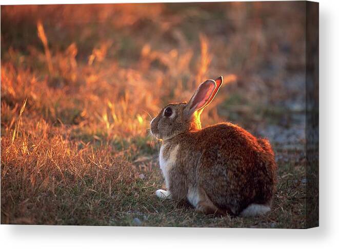
<path fill-rule="evenodd" d="M 204 214 L 264 215 L 276 188 L 269 141 L 231 123 L 201 127 L 201 113 L 222 83 L 222 76 L 206 80 L 188 103 L 170 103 L 152 119 L 151 134 L 162 140 L 159 165 L 167 188 L 155 194 L 187 200 Z"/>

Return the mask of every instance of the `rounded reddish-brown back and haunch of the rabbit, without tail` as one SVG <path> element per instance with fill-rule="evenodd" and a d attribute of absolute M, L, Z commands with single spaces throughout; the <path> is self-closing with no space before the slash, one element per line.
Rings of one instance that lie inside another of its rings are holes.
<path fill-rule="evenodd" d="M 208 126 L 195 137 L 201 150 L 197 185 L 214 205 L 238 214 L 250 203 L 271 201 L 276 165 L 267 140 L 230 123 Z"/>

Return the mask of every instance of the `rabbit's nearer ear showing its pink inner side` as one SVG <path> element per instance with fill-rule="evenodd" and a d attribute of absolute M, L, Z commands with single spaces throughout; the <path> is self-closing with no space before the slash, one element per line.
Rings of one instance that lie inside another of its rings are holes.
<path fill-rule="evenodd" d="M 190 118 L 194 111 L 204 108 L 209 103 L 215 89 L 216 82 L 214 80 L 206 80 L 201 83 L 184 109 L 185 118 Z"/>

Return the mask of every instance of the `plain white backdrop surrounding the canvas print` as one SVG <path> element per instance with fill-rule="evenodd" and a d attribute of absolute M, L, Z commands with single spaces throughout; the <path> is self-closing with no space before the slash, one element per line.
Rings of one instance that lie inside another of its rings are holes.
<path fill-rule="evenodd" d="M 5 4 L 93 3 L 68 1 L 0 1 Z M 159 1 L 98 1 L 96 3 L 142 3 Z M 208 1 L 166 1 L 208 2 Z M 219 2 L 219 1 L 215 1 Z M 61 227 L 37 225 L 1 225 L 0 245 L 3 248 L 284 248 L 339 245 L 338 211 L 338 106 L 339 35 L 338 2 L 320 2 L 320 228 L 287 229 L 186 229 L 127 227 Z"/>

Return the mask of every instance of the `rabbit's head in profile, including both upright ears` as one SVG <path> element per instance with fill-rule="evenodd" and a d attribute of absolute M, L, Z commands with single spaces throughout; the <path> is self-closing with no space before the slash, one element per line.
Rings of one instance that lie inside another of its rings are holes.
<path fill-rule="evenodd" d="M 151 133 L 167 140 L 189 130 L 201 129 L 200 115 L 213 100 L 223 83 L 223 77 L 206 80 L 196 89 L 188 103 L 170 103 L 151 121 Z"/>

